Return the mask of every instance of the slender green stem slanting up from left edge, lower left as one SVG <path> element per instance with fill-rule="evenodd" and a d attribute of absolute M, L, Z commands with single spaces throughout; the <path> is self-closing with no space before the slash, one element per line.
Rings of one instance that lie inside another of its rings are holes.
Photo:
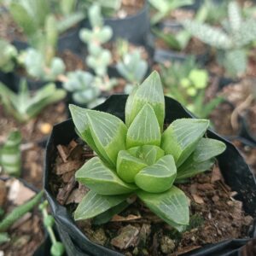
<path fill-rule="evenodd" d="M 35 195 L 32 200 L 27 201 L 25 204 L 21 205 L 20 207 L 16 207 L 12 212 L 9 213 L 5 218 L 3 218 L 3 221 L 0 223 L 0 231 L 8 230 L 9 227 L 15 223 L 16 220 L 21 218 L 23 215 L 26 214 L 26 212 L 29 212 L 32 210 L 34 206 L 38 204 L 38 202 L 41 200 L 42 196 L 44 194 L 44 191 L 38 193 L 38 195 Z"/>

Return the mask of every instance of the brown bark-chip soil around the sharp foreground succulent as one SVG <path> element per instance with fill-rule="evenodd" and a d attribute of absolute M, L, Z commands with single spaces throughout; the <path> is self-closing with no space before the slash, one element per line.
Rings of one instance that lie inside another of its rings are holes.
<path fill-rule="evenodd" d="M 57 151 L 50 187 L 57 201 L 73 212 L 89 190 L 75 181 L 74 174 L 94 154 L 80 141 L 58 145 Z M 233 198 L 236 192 L 224 183 L 218 166 L 178 187 L 190 203 L 190 224 L 182 235 L 134 197 L 134 202 L 108 223 L 96 225 L 87 220 L 79 222 L 79 228 L 91 241 L 125 255 L 179 255 L 207 243 L 247 236 L 253 218 L 243 212 L 241 201 Z"/>

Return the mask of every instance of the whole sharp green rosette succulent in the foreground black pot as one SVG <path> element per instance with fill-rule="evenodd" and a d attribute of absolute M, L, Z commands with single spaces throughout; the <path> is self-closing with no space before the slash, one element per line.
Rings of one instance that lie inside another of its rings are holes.
<path fill-rule="evenodd" d="M 90 191 L 74 212 L 94 218 L 131 195 L 182 231 L 189 201 L 174 183 L 205 172 L 225 144 L 204 137 L 207 119 L 177 119 L 164 130 L 165 98 L 158 73 L 136 86 L 125 105 L 125 123 L 110 113 L 70 105 L 79 136 L 97 156 L 75 174 Z"/>

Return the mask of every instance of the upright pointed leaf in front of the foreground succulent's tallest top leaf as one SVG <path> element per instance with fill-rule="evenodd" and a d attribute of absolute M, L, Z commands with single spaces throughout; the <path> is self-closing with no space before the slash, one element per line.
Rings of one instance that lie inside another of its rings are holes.
<path fill-rule="evenodd" d="M 128 148 L 147 145 L 160 146 L 160 126 L 154 109 L 146 104 L 128 128 L 126 145 Z"/>

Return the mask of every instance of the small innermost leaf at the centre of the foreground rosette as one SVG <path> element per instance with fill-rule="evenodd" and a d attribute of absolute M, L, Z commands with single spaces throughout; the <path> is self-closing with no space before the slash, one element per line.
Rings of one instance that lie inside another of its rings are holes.
<path fill-rule="evenodd" d="M 165 155 L 165 151 L 154 145 L 143 145 L 140 147 L 129 148 L 128 152 L 147 163 L 148 166 L 154 165 L 157 160 L 160 160 Z"/>

